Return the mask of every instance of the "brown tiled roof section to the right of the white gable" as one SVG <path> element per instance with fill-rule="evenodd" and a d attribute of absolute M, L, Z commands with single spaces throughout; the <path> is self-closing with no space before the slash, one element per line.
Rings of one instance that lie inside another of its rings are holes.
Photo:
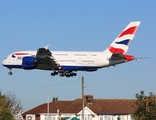
<path fill-rule="evenodd" d="M 123 99 L 95 99 L 90 109 L 98 114 L 131 114 L 134 111 L 132 105 L 136 100 Z"/>

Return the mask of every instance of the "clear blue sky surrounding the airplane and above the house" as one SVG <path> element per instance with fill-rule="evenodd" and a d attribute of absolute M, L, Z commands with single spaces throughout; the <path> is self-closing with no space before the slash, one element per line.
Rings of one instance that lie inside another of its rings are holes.
<path fill-rule="evenodd" d="M 50 45 L 51 51 L 103 51 L 131 21 L 141 21 L 128 55 L 155 57 L 156 1 L 143 0 L 1 0 L 0 61 L 22 50 Z M 25 110 L 50 101 L 81 98 L 135 99 L 145 91 L 156 94 L 156 58 L 131 61 L 96 72 L 78 72 L 71 78 L 51 77 L 50 71 L 0 67 L 0 89 L 21 99 Z"/>

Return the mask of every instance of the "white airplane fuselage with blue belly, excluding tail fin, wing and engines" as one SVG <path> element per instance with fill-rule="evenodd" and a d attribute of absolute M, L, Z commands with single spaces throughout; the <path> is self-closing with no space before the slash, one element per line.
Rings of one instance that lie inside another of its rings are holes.
<path fill-rule="evenodd" d="M 22 68 L 22 59 L 26 56 L 36 56 L 37 51 L 20 51 L 10 54 L 2 64 L 8 68 Z M 78 52 L 78 51 L 51 51 L 56 62 L 64 71 L 94 71 L 98 68 L 125 62 L 125 60 L 109 60 L 107 52 Z M 38 69 L 38 68 L 36 68 Z"/>

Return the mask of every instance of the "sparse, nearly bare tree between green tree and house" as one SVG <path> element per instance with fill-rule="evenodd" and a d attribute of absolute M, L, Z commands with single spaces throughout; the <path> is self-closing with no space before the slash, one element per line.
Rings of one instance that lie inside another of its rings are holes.
<path fill-rule="evenodd" d="M 6 101 L 8 104 L 8 108 L 14 117 L 16 117 L 16 115 L 23 110 L 23 106 L 21 105 L 21 101 L 18 100 L 16 98 L 16 95 L 11 93 L 10 91 L 6 93 Z"/>

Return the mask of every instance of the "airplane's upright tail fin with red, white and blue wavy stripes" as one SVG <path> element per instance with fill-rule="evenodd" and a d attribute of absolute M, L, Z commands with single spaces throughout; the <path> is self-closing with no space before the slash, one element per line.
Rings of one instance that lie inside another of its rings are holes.
<path fill-rule="evenodd" d="M 111 43 L 105 52 L 126 54 L 134 35 L 140 25 L 140 21 L 130 22 L 120 35 Z"/>

